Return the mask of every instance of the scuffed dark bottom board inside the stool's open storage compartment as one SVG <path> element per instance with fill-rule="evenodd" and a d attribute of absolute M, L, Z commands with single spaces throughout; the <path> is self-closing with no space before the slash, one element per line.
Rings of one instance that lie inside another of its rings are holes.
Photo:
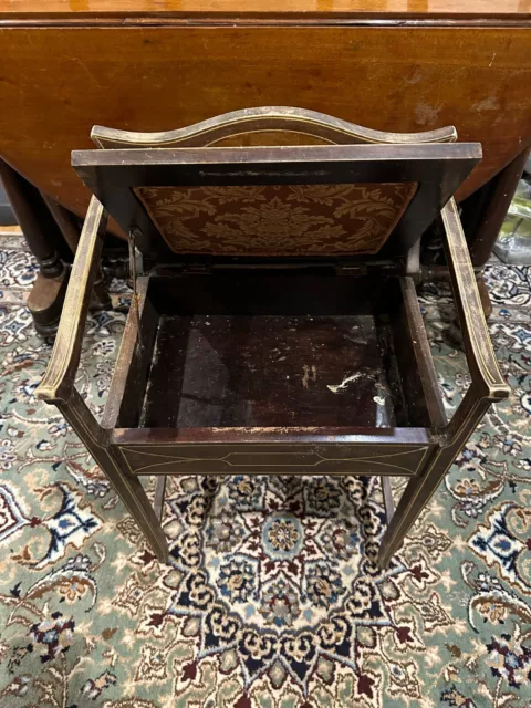
<path fill-rule="evenodd" d="M 143 425 L 408 425 L 387 329 L 371 315 L 163 315 Z"/>

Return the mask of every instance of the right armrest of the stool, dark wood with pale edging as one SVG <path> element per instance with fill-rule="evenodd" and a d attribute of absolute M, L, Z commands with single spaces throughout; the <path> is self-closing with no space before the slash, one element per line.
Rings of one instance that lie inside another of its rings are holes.
<path fill-rule="evenodd" d="M 492 402 L 507 398 L 511 389 L 500 372 L 492 348 L 476 282 L 476 273 L 454 199 L 450 199 L 442 209 L 441 217 L 446 231 L 446 258 L 471 377 L 470 395 L 467 394 L 445 430 L 451 441 L 462 431 L 465 421 L 470 425 L 472 423 L 470 418 L 478 417 L 480 409 L 482 409 L 482 406 L 476 405 L 479 400 L 490 405 Z M 472 416 L 472 409 L 477 412 L 477 415 Z M 479 419 L 473 423 L 473 426 L 477 423 Z"/>

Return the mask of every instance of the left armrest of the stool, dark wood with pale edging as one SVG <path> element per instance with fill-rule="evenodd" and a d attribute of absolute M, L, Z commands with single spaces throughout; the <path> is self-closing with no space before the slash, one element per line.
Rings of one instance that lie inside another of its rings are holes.
<path fill-rule="evenodd" d="M 52 356 L 35 392 L 37 397 L 46 403 L 66 403 L 72 395 L 106 222 L 107 215 L 103 206 L 92 197 L 70 274 Z"/>

